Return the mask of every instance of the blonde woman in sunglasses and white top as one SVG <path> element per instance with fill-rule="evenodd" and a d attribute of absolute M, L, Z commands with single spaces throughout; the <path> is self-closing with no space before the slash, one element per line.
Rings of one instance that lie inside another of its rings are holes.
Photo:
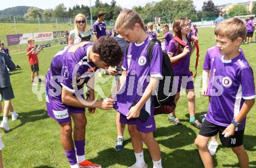
<path fill-rule="evenodd" d="M 89 35 L 91 39 L 91 33 L 87 28 L 86 16 L 81 13 L 77 14 L 74 17 L 74 29 L 69 33 L 69 45 L 79 42 L 81 41 L 81 37 L 87 37 Z"/>

